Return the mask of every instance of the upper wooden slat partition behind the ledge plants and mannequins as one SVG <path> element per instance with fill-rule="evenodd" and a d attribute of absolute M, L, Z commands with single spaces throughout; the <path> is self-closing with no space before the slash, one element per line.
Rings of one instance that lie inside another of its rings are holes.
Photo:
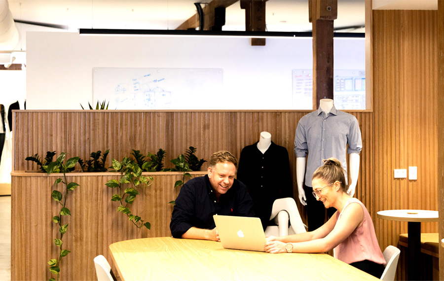
<path fill-rule="evenodd" d="M 32 111 L 15 112 L 13 170 L 37 170 L 37 165 L 25 161 L 27 156 L 46 151 L 69 153 L 89 159 L 92 151 L 110 149 L 111 159 L 121 160 L 130 156 L 131 149 L 156 153 L 159 148 L 167 151 L 165 166 L 172 167 L 170 159 L 184 153 L 189 146 L 197 148 L 196 155 L 208 160 L 218 150 L 229 150 L 236 157 L 246 145 L 259 140 L 262 131 L 271 133 L 272 140 L 287 148 L 293 180 L 296 181 L 296 157 L 294 138 L 299 119 L 308 112 L 297 111 Z M 352 112 L 360 124 L 363 136 L 362 164 L 360 169 L 358 198 L 361 194 L 366 205 L 370 204 L 371 182 L 370 147 L 373 128 L 371 112 Z M 53 122 L 50 120 L 54 120 Z M 365 162 L 364 162 L 365 161 Z M 79 167 L 77 167 L 79 169 Z M 207 163 L 202 170 L 206 170 Z M 369 170 L 370 171 L 370 170 Z M 364 181 L 365 180 L 365 181 Z M 361 189 L 364 188 L 364 192 Z M 297 187 L 294 184 L 295 196 Z M 299 208 L 301 208 L 299 206 Z M 302 211 L 304 211 L 302 209 Z"/>

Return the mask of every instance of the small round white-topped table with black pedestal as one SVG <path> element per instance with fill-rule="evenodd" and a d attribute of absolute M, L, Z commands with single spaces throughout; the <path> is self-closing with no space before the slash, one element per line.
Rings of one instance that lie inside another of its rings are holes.
<path fill-rule="evenodd" d="M 407 221 L 408 232 L 408 279 L 421 278 L 421 222 L 438 221 L 438 211 L 429 210 L 385 210 L 378 211 L 377 216 L 382 219 Z"/>

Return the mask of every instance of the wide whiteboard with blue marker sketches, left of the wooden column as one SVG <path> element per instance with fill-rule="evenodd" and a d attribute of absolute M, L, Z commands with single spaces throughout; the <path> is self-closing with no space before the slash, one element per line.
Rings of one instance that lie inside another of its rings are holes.
<path fill-rule="evenodd" d="M 222 69 L 93 69 L 93 103 L 109 109 L 207 109 L 222 86 Z"/>

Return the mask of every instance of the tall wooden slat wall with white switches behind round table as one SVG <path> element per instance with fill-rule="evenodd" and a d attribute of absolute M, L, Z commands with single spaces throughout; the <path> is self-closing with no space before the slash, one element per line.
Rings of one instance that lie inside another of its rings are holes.
<path fill-rule="evenodd" d="M 375 211 L 438 210 L 436 42 L 436 11 L 373 11 Z M 393 178 L 408 166 L 418 167 L 417 180 Z M 374 223 L 381 248 L 407 233 L 407 222 Z M 438 232 L 438 223 L 422 223 L 422 232 Z"/>

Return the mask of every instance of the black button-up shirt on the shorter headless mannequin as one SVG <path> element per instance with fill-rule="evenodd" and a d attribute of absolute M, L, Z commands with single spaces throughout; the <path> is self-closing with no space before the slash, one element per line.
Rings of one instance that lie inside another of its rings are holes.
<path fill-rule="evenodd" d="M 265 230 L 270 224 L 273 202 L 279 198 L 293 198 L 293 182 L 287 148 L 271 142 L 262 154 L 258 142 L 242 149 L 237 179 L 247 185 L 255 214 Z"/>

